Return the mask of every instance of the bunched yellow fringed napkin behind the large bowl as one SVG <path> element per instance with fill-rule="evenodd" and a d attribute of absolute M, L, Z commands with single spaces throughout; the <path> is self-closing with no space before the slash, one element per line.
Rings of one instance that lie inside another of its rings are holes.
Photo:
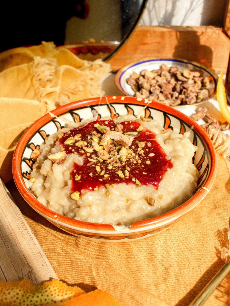
<path fill-rule="evenodd" d="M 100 97 L 110 65 L 83 61 L 53 43 L 0 53 L 0 177 L 12 178 L 14 149 L 34 121 L 57 106 Z"/>

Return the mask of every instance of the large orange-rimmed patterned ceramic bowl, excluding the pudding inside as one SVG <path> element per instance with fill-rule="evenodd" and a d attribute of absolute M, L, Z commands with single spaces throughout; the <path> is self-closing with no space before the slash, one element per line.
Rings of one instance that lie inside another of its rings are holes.
<path fill-rule="evenodd" d="M 98 106 L 99 105 L 99 106 Z M 197 190 L 192 198 L 158 217 L 135 222 L 129 227 L 82 222 L 51 211 L 36 200 L 29 188 L 32 171 L 31 153 L 51 135 L 64 126 L 63 118 L 79 122 L 82 119 L 117 117 L 119 114 L 143 115 L 157 118 L 166 129 L 179 129 L 183 134 L 192 131 L 191 141 L 198 146 L 194 164 L 199 170 Z M 178 110 L 160 103 L 128 96 L 107 96 L 73 102 L 56 108 L 36 121 L 21 137 L 13 156 L 13 176 L 25 201 L 48 221 L 76 236 L 85 236 L 104 241 L 131 241 L 159 233 L 191 211 L 209 192 L 217 172 L 216 152 L 204 130 L 192 119 Z"/>

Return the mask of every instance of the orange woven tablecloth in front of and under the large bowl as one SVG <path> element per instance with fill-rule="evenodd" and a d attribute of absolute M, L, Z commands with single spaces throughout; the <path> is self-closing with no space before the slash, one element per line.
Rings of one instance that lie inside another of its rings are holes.
<path fill-rule="evenodd" d="M 218 175 L 206 198 L 182 220 L 153 237 L 101 242 L 75 237 L 38 215 L 13 181 L 6 184 L 59 279 L 86 291 L 111 293 L 127 305 L 188 305 L 223 265 L 228 246 L 229 174 L 218 157 Z M 229 305 L 230 275 L 206 306 Z"/>

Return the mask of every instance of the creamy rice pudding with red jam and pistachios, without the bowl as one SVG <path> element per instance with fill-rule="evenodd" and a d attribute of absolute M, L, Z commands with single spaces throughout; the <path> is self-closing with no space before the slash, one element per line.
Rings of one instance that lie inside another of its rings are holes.
<path fill-rule="evenodd" d="M 197 147 L 157 120 L 122 115 L 85 120 L 46 138 L 30 174 L 37 200 L 86 222 L 130 225 L 193 196 Z"/>

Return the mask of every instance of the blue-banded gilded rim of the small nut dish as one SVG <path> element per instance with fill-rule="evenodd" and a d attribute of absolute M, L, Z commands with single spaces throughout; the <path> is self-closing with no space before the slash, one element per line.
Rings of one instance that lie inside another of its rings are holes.
<path fill-rule="evenodd" d="M 146 63 L 154 63 L 154 62 L 177 62 L 179 65 L 188 65 L 188 66 L 193 66 L 195 69 L 202 69 L 204 70 L 210 77 L 211 77 L 211 80 L 213 82 L 213 90 L 209 93 L 209 97 L 207 99 L 210 99 L 212 98 L 215 93 L 216 93 L 216 88 L 217 88 L 217 80 L 218 80 L 218 76 L 217 74 L 215 73 L 215 71 L 213 69 L 210 69 L 200 63 L 197 63 L 197 62 L 189 62 L 185 59 L 182 59 L 182 58 L 143 58 L 141 61 L 139 62 L 132 62 L 128 65 L 125 65 L 124 67 L 122 67 L 116 74 L 116 86 L 117 86 L 117 89 L 121 92 L 122 95 L 130 95 L 130 93 L 126 90 L 126 88 L 124 87 L 124 82 L 126 82 L 126 78 L 125 80 L 123 79 L 124 78 L 124 75 L 127 71 L 130 70 L 130 73 L 133 71 L 133 69 L 135 69 L 136 67 L 140 66 L 140 65 L 143 65 L 143 64 L 146 64 Z M 144 67 L 143 67 L 144 68 Z M 145 69 L 148 69 L 147 67 L 145 67 Z M 127 85 L 129 86 L 129 85 Z M 205 99 L 205 100 L 207 100 Z M 201 101 L 201 102 L 198 102 L 198 103 L 194 103 L 194 104 L 186 104 L 186 105 L 177 105 L 177 106 L 173 106 L 173 107 L 188 107 L 188 106 L 193 106 L 193 105 L 199 105 L 201 104 L 202 102 L 204 102 L 205 100 Z"/>

